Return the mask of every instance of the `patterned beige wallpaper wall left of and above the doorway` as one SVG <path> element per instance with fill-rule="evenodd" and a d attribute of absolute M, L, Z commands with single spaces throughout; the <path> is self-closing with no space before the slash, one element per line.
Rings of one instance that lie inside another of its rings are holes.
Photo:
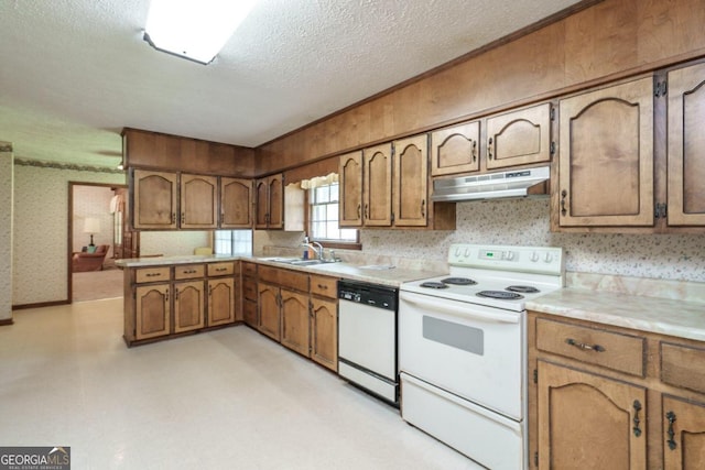
<path fill-rule="evenodd" d="M 15 161 L 13 305 L 67 299 L 69 182 L 126 184 L 126 177 Z"/>

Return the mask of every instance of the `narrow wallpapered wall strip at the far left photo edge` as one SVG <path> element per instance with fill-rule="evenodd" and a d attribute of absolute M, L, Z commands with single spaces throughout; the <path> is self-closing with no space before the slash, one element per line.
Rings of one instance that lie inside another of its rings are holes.
<path fill-rule="evenodd" d="M 11 147 L 0 142 L 0 320 L 12 318 L 12 161 Z"/>

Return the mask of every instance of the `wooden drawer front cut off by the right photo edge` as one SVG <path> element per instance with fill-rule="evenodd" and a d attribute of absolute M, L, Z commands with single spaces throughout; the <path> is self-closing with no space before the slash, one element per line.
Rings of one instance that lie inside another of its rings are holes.
<path fill-rule="evenodd" d="M 705 393 L 705 349 L 661 342 L 661 382 Z"/>

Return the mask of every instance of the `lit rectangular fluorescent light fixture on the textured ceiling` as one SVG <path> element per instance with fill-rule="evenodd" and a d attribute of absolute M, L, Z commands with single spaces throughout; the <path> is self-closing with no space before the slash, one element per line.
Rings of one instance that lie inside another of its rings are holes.
<path fill-rule="evenodd" d="M 158 51 L 209 64 L 257 0 L 152 0 L 144 41 Z"/>

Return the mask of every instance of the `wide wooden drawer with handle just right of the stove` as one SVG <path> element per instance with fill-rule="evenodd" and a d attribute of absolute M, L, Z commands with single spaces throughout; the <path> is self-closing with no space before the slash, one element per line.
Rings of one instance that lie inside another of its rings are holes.
<path fill-rule="evenodd" d="M 646 338 L 562 321 L 536 319 L 536 348 L 566 358 L 644 376 Z"/>

